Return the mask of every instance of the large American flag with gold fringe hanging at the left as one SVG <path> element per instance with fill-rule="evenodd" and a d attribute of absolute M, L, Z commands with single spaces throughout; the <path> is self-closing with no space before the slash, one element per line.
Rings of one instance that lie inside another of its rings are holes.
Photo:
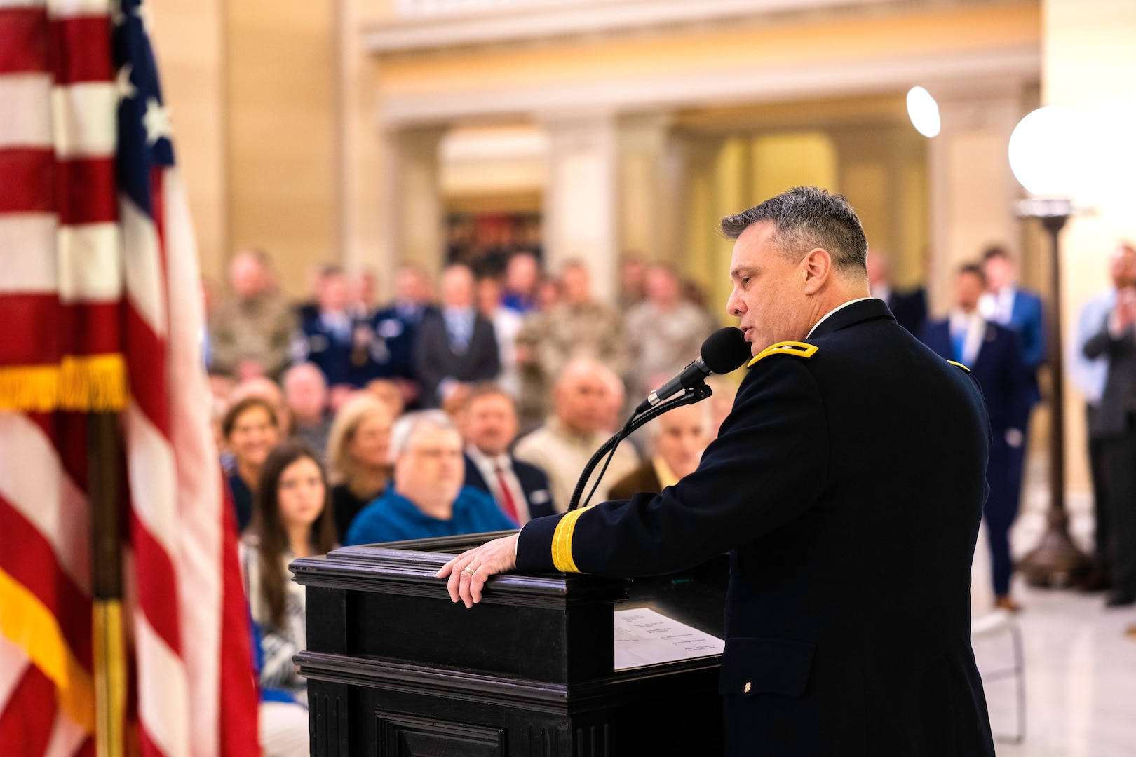
<path fill-rule="evenodd" d="M 86 412 L 120 411 L 127 733 L 259 754 L 189 205 L 137 0 L 0 0 L 0 750 L 93 755 Z M 136 726 L 136 727 L 135 727 Z"/>

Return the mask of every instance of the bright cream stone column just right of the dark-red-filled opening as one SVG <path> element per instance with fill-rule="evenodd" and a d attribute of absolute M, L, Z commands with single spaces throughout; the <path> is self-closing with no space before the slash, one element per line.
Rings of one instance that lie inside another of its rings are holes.
<path fill-rule="evenodd" d="M 583 261 L 592 291 L 611 302 L 617 288 L 616 177 L 618 134 L 611 113 L 548 115 L 548 187 L 544 199 L 545 263 Z"/>

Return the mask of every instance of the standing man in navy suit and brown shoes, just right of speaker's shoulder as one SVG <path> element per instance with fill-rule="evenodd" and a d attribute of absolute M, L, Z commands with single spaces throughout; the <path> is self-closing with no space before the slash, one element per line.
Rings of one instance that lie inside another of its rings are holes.
<path fill-rule="evenodd" d="M 1018 515 L 1021 496 L 1021 469 L 1030 392 L 1027 369 L 1021 359 L 1018 336 L 992 323 L 978 311 L 986 287 L 983 269 L 963 266 L 955 283 L 955 308 L 946 320 L 929 322 L 922 340 L 941 356 L 970 369 L 986 399 L 991 419 L 991 454 L 986 466 L 989 496 L 986 518 L 991 546 L 994 595 L 999 607 L 1018 609 L 1010 597 L 1010 527 Z"/>

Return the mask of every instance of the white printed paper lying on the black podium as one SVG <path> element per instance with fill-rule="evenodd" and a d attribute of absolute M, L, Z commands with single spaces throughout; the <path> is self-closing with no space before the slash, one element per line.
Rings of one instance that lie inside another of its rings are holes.
<path fill-rule="evenodd" d="M 726 642 L 646 607 L 616 611 L 616 670 L 720 655 Z"/>

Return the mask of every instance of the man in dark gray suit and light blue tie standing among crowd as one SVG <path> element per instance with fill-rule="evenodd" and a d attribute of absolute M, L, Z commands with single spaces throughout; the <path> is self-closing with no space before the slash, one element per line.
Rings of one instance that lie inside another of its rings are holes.
<path fill-rule="evenodd" d="M 501 371 L 493 323 L 474 306 L 474 272 L 457 263 L 442 272 L 442 310 L 423 316 L 415 337 L 415 368 L 423 404 L 438 406 L 463 384 L 490 381 Z"/>

